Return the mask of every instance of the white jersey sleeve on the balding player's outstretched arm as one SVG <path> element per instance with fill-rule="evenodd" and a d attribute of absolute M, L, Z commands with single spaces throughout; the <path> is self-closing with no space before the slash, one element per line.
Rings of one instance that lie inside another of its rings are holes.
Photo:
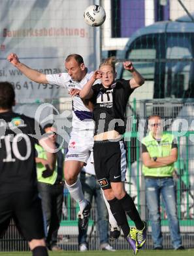
<path fill-rule="evenodd" d="M 46 80 L 48 81 L 48 83 L 50 83 L 50 85 L 59 85 L 67 88 L 67 83 L 69 82 L 69 74 L 48 74 L 46 75 Z"/>

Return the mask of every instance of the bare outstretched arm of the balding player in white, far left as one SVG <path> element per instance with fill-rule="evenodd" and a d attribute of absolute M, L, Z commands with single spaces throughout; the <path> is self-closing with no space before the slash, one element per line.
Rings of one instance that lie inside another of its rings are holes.
<path fill-rule="evenodd" d="M 42 74 L 37 70 L 33 70 L 32 68 L 29 68 L 28 66 L 20 62 L 18 56 L 15 53 L 10 53 L 7 57 L 7 60 L 32 81 L 35 81 L 37 83 L 48 83 L 45 74 Z"/>

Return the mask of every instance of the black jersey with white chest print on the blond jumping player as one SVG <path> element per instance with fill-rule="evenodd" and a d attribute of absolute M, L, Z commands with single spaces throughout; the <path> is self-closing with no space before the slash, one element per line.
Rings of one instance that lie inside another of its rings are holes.
<path fill-rule="evenodd" d="M 93 117 L 95 121 L 95 135 L 106 131 L 125 133 L 125 110 L 129 96 L 133 93 L 129 80 L 118 79 L 110 88 L 103 84 L 93 85 Z"/>

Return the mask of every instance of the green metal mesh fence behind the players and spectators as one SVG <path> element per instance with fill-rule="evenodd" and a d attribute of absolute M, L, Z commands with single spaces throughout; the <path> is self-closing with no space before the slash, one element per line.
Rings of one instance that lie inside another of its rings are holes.
<path fill-rule="evenodd" d="M 58 104 L 60 112 L 63 112 L 63 104 Z M 127 112 L 127 131 L 125 140 L 127 144 L 128 171 L 125 188 L 131 194 L 143 219 L 148 221 L 148 239 L 146 248 L 152 248 L 151 228 L 146 208 L 144 178 L 142 177 L 142 161 L 140 157 L 140 139 L 147 132 L 146 119 L 152 114 L 158 114 L 169 121 L 165 125 L 166 132 L 174 133 L 178 139 L 178 161 L 176 162 L 177 175 L 174 178 L 176 184 L 178 219 L 183 245 L 187 248 L 194 245 L 194 100 L 184 102 L 182 100 L 141 100 L 131 102 Z M 133 118 L 129 118 L 130 114 Z M 144 121 L 142 121 L 144 120 Z M 184 120 L 184 121 L 181 121 Z M 63 119 L 57 119 L 63 125 Z M 184 125 L 182 125 L 184 123 Z M 65 145 L 64 145 L 65 146 Z M 78 205 L 70 198 L 67 189 L 64 189 L 63 216 L 59 229 L 59 246 L 65 250 L 78 250 Z M 91 218 L 88 228 L 89 249 L 99 249 L 99 236 L 96 230 L 95 204 L 91 209 Z M 129 224 L 131 221 L 129 221 Z M 163 204 L 161 203 L 161 224 L 163 231 L 163 246 L 172 248 L 168 219 Z M 129 249 L 123 236 L 112 242 L 116 249 Z M 27 250 L 27 243 L 22 240 L 14 223 L 11 223 L 5 237 L 0 240 L 0 251 Z"/>

